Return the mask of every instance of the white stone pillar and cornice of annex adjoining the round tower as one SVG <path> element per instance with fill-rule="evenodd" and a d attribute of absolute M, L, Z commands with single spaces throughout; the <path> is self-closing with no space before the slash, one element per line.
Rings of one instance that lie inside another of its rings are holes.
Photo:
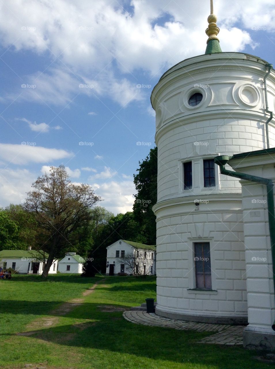
<path fill-rule="evenodd" d="M 235 171 L 275 180 L 275 154 L 233 159 Z M 248 331 L 269 332 L 275 320 L 274 283 L 270 249 L 267 187 L 241 181 L 243 195 L 244 243 L 248 293 Z"/>

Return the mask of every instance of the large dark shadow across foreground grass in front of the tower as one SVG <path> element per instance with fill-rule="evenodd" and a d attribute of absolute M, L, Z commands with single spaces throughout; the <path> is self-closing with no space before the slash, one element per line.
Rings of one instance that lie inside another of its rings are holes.
<path fill-rule="evenodd" d="M 35 344 L 34 339 L 39 339 L 53 344 L 84 348 L 87 355 L 88 349 L 99 349 L 104 350 L 107 356 L 111 352 L 164 362 L 184 363 L 187 365 L 184 368 L 189 368 L 189 364 L 190 368 L 193 368 L 191 364 L 194 368 L 201 368 L 198 365 L 215 369 L 269 368 L 267 364 L 253 360 L 255 352 L 251 353 L 242 347 L 197 343 L 210 335 L 209 332 L 180 331 L 133 324 L 126 321 L 122 313 L 101 312 L 94 303 L 79 306 L 66 317 L 91 320 L 86 323 L 76 322 L 72 325 L 35 330 L 25 339 L 29 339 L 30 344 Z M 14 334 L 2 335 L 5 338 L 12 336 Z M 160 367 L 164 368 L 163 365 L 164 363 Z"/>

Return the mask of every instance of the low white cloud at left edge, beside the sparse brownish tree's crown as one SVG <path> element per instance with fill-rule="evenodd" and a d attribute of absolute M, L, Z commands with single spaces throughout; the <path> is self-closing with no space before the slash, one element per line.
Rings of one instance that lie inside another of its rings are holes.
<path fill-rule="evenodd" d="M 36 176 L 27 169 L 1 169 L 0 207 L 8 206 L 10 203 L 21 204 L 35 180 Z"/>

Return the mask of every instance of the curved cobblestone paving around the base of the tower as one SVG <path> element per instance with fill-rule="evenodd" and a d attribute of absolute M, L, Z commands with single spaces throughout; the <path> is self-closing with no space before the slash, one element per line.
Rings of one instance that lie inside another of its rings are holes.
<path fill-rule="evenodd" d="M 196 323 L 185 320 L 175 320 L 160 317 L 146 311 L 124 311 L 123 317 L 135 324 L 150 325 L 152 327 L 167 327 L 178 330 L 192 330 L 200 332 L 213 332 L 213 335 L 203 338 L 201 343 L 219 345 L 242 345 L 243 325 Z"/>

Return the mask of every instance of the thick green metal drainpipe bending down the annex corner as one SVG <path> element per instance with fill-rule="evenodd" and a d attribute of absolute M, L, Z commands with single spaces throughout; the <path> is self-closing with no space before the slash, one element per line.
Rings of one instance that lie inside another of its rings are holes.
<path fill-rule="evenodd" d="M 214 158 L 215 164 L 219 165 L 220 173 L 226 176 L 231 176 L 239 179 L 244 179 L 250 182 L 255 182 L 259 184 L 265 184 L 267 186 L 267 209 L 268 209 L 268 224 L 269 224 L 269 235 L 271 244 L 271 256 L 272 256 L 272 269 L 273 269 L 273 283 L 275 290 L 275 213 L 274 213 L 274 192 L 273 192 L 273 182 L 271 179 L 251 176 L 249 174 L 233 172 L 232 170 L 227 170 L 224 165 L 227 164 L 230 157 L 227 155 L 216 156 Z M 275 331 L 275 320 L 271 326 Z"/>

